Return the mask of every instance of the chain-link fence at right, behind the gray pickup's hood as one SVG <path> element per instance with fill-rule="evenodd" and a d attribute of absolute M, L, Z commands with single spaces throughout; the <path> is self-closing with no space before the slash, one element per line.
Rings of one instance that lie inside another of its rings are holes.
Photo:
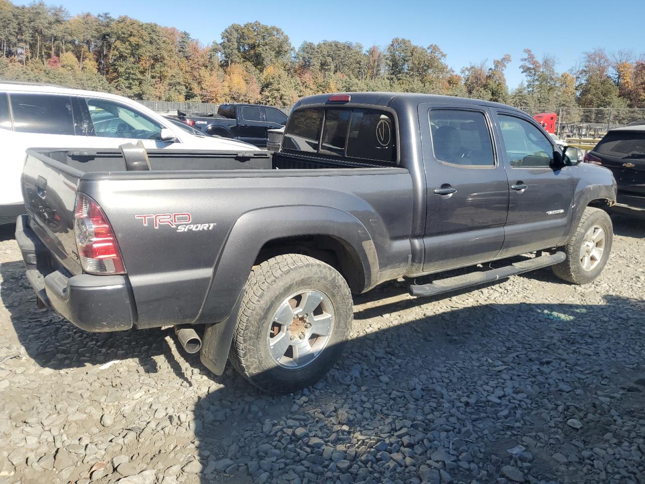
<path fill-rule="evenodd" d="M 645 124 L 645 109 L 633 108 L 520 108 L 535 116 L 540 113 L 557 114 L 555 134 L 562 138 L 600 139 L 611 128 L 630 123 Z"/>

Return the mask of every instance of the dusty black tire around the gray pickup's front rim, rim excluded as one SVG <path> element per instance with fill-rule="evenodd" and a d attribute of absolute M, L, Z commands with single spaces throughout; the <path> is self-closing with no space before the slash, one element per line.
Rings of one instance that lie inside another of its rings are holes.
<path fill-rule="evenodd" d="M 591 270 L 582 268 L 580 251 L 584 236 L 593 226 L 601 227 L 605 232 L 605 243 L 602 257 L 599 263 Z M 566 259 L 559 264 L 554 265 L 553 274 L 564 281 L 573 284 L 587 284 L 596 279 L 604 269 L 607 259 L 611 252 L 611 243 L 613 241 L 613 225 L 611 218 L 604 210 L 600 208 L 587 207 L 582 213 L 580 223 L 571 237 L 571 240 L 563 248 L 566 252 Z"/>

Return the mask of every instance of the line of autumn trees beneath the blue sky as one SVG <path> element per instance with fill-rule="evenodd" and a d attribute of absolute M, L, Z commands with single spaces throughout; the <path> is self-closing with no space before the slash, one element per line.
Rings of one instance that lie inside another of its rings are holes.
<path fill-rule="evenodd" d="M 292 46 L 277 26 L 233 24 L 221 42 L 110 14 L 71 16 L 42 1 L 0 0 L 0 78 L 115 92 L 133 99 L 250 102 L 291 106 L 321 92 L 426 92 L 521 107 L 645 107 L 645 57 L 630 50 L 585 52 L 564 72 L 553 55 L 524 50 L 513 90 L 501 55 L 455 72 L 437 45 L 401 37 L 389 45 L 322 41 Z"/>

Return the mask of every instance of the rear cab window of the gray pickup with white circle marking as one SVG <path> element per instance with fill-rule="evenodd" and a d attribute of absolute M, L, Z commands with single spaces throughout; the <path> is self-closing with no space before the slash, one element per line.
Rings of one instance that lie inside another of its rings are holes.
<path fill-rule="evenodd" d="M 304 108 L 286 125 L 282 149 L 329 157 L 395 165 L 395 123 L 392 114 L 367 108 Z"/>

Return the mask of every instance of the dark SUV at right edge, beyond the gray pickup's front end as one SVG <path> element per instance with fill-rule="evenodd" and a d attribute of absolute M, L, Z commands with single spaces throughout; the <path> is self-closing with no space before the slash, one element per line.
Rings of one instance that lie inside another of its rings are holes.
<path fill-rule="evenodd" d="M 610 130 L 584 161 L 613 172 L 618 183 L 617 207 L 645 211 L 645 125 Z"/>

